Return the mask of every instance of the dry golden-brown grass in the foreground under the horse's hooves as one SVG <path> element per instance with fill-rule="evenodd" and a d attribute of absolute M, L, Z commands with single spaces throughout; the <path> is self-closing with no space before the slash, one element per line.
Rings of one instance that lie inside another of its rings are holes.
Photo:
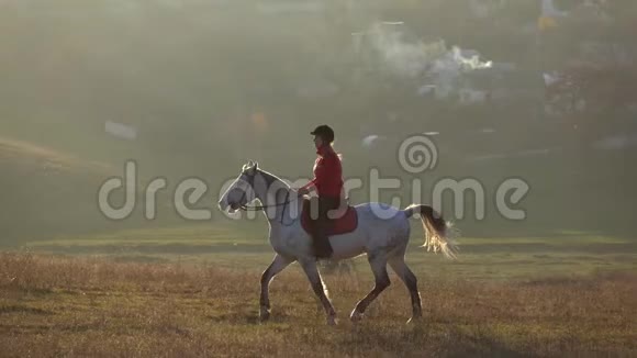
<path fill-rule="evenodd" d="M 637 355 L 635 272 L 480 283 L 416 272 L 414 326 L 394 276 L 358 326 L 346 318 L 371 275 L 326 276 L 340 318 L 328 327 L 298 266 L 272 282 L 272 320 L 259 324 L 261 270 L 3 253 L 1 356 Z"/>

